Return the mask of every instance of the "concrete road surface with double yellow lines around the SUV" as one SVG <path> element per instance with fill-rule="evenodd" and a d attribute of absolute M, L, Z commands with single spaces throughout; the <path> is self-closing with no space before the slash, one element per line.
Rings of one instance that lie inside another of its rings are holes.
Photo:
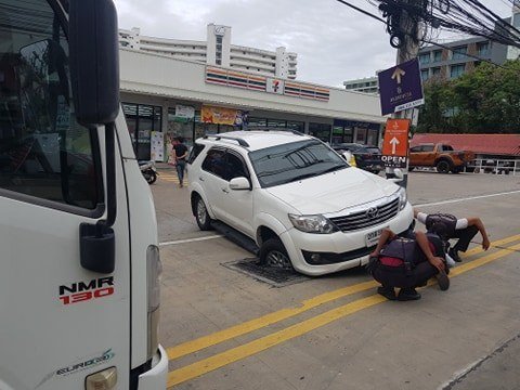
<path fill-rule="evenodd" d="M 230 269 L 251 255 L 198 231 L 173 170 L 152 186 L 164 263 L 160 342 L 176 389 L 519 389 L 520 177 L 413 172 L 427 212 L 483 219 L 451 273 L 414 302 L 363 270 L 282 287 Z"/>

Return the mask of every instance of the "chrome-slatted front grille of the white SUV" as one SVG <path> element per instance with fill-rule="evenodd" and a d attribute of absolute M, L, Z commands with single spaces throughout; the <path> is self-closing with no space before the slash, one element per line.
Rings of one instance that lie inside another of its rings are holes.
<path fill-rule="evenodd" d="M 351 232 L 377 225 L 392 219 L 399 211 L 399 198 L 344 217 L 329 218 L 341 232 Z"/>

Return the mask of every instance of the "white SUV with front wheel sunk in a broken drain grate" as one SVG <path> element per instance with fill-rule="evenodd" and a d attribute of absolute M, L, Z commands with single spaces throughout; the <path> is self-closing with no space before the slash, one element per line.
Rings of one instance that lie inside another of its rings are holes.
<path fill-rule="evenodd" d="M 224 222 L 257 243 L 262 262 L 308 275 L 366 263 L 384 227 L 401 233 L 413 221 L 404 188 L 298 132 L 198 139 L 188 174 L 202 230 Z"/>

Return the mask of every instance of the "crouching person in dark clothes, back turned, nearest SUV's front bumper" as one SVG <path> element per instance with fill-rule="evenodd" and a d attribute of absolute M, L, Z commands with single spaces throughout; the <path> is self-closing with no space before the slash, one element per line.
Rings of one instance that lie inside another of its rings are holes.
<path fill-rule="evenodd" d="M 385 229 L 370 253 L 368 272 L 381 284 L 377 292 L 390 300 L 420 299 L 417 287 L 435 276 L 441 290 L 450 287 L 442 240 L 433 234 L 415 232 L 408 237 Z M 395 296 L 394 288 L 401 288 Z"/>

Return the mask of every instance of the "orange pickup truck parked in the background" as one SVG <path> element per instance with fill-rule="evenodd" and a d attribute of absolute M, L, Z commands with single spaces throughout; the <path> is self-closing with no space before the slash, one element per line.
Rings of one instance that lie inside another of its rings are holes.
<path fill-rule="evenodd" d="M 416 167 L 434 167 L 440 173 L 459 173 L 474 159 L 474 153 L 455 151 L 451 145 L 419 144 L 410 148 L 410 170 Z"/>

